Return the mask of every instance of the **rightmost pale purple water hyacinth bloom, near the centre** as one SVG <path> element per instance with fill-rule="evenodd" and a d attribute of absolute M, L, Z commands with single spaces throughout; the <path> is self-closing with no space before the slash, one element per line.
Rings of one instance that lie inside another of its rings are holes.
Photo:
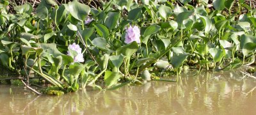
<path fill-rule="evenodd" d="M 140 29 L 138 26 L 130 26 L 126 29 L 125 34 L 125 43 L 131 43 L 136 41 L 137 43 L 140 43 Z"/>

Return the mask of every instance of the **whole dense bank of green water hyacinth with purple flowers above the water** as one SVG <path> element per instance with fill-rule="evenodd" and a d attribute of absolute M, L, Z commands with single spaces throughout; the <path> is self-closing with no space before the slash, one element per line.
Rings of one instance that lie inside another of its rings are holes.
<path fill-rule="evenodd" d="M 0 0 L 1 68 L 26 86 L 40 79 L 51 95 L 255 61 L 256 10 L 248 1 L 18 3 Z"/>

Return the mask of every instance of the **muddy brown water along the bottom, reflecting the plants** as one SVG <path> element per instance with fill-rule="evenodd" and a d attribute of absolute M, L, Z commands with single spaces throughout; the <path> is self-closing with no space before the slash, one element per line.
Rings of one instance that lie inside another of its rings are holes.
<path fill-rule="evenodd" d="M 255 79 L 237 70 L 63 96 L 0 85 L 0 114 L 256 114 L 255 90 Z"/>

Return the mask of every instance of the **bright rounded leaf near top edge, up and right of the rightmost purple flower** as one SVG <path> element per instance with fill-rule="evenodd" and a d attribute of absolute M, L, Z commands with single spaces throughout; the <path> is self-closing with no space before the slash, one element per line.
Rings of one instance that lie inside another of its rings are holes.
<path fill-rule="evenodd" d="M 158 12 L 161 15 L 161 18 L 163 20 L 168 19 L 168 17 L 170 17 L 172 15 L 172 8 L 168 7 L 168 6 L 164 6 L 163 4 L 161 6 L 159 6 L 158 8 Z"/>

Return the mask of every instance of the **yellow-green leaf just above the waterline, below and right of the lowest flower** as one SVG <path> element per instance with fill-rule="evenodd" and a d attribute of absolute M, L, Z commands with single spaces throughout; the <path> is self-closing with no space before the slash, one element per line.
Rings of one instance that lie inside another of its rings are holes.
<path fill-rule="evenodd" d="M 106 71 L 104 76 L 104 81 L 106 83 L 107 88 L 113 86 L 118 82 L 118 79 L 120 79 L 122 75 L 118 72 L 110 72 Z"/>

